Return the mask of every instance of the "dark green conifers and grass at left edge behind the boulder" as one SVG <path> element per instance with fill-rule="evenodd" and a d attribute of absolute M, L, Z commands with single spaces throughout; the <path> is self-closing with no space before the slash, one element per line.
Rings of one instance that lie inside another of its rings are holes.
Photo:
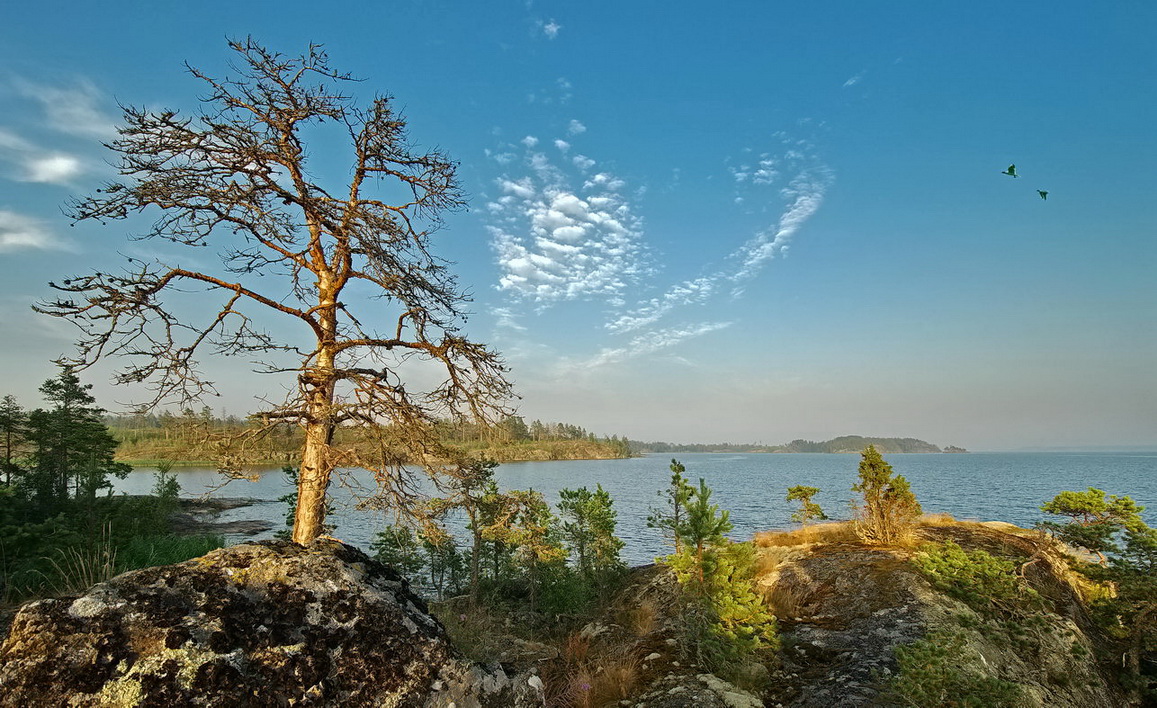
<path fill-rule="evenodd" d="M 0 600 L 81 591 L 223 543 L 170 533 L 180 494 L 170 464 L 159 465 L 152 496 L 97 494 L 130 467 L 113 462 L 116 441 L 90 389 L 62 367 L 40 386 L 49 410 L 24 416 L 13 397 L 0 403 L 0 452 L 12 464 L 0 485 Z"/>

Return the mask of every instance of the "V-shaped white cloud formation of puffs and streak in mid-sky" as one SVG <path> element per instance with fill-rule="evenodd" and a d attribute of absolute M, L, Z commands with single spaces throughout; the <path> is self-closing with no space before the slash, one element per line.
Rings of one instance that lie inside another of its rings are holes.
<path fill-rule="evenodd" d="M 650 260 L 633 204 L 643 190 L 628 191 L 625 179 L 578 153 L 576 142 L 585 128 L 574 130 L 575 124 L 582 125 L 572 120 L 567 140 L 528 135 L 518 161 L 502 157 L 517 146 L 493 150 L 507 171 L 495 180 L 498 196 L 487 202 L 500 270 L 496 287 L 511 297 L 510 307 L 495 312 L 501 327 L 528 337 L 518 315 L 525 305 L 536 314 L 569 301 L 597 301 L 604 308 L 603 337 L 616 341 L 587 357 L 561 357 L 562 371 L 655 355 L 730 326 L 734 308 L 727 305 L 743 297 L 746 281 L 787 253 L 832 183 L 831 170 L 804 141 L 776 134 L 776 149 L 743 150 L 740 158 L 725 162 L 736 208 L 766 217 L 766 226 L 720 253 L 717 265 L 703 273 L 656 287 L 659 268 Z M 540 145 L 555 150 L 540 150 Z M 727 242 L 725 235 L 713 236 Z M 648 290 L 657 292 L 644 296 Z M 714 305 L 727 307 L 727 318 L 705 320 Z"/>

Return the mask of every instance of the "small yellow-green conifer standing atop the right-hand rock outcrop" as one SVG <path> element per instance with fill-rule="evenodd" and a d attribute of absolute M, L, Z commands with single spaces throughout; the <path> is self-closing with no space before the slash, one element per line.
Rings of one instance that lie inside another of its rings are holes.
<path fill-rule="evenodd" d="M 908 480 L 892 473 L 875 447 L 861 453 L 860 481 L 852 487 L 863 495 L 856 510 L 856 534 L 865 543 L 890 545 L 908 539 L 915 521 L 922 514 Z"/>

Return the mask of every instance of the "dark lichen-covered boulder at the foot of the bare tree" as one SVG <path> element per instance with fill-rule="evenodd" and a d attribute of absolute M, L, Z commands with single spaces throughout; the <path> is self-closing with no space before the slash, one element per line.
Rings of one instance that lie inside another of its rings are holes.
<path fill-rule="evenodd" d="M 0 706 L 519 706 L 406 581 L 333 540 L 261 541 L 23 607 Z"/>

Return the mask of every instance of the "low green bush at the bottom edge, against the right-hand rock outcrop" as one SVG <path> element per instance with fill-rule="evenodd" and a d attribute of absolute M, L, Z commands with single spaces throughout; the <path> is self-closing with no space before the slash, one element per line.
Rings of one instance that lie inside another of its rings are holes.
<path fill-rule="evenodd" d="M 884 686 L 883 698 L 900 706 L 931 708 L 1016 708 L 1023 691 L 1014 683 L 968 670 L 964 635 L 933 632 L 924 639 L 896 648 L 899 672 Z"/>

